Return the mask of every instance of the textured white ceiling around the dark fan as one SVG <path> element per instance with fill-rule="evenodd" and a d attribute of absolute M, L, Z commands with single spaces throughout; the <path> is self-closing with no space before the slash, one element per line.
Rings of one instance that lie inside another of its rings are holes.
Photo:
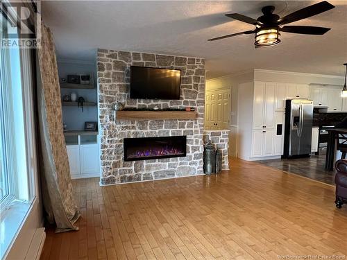
<path fill-rule="evenodd" d="M 190 55 L 206 59 L 208 78 L 249 69 L 344 75 L 347 1 L 290 25 L 332 28 L 323 36 L 282 33 L 276 46 L 254 49 L 253 35 L 212 37 L 253 29 L 224 14 L 257 18 L 262 6 L 281 17 L 317 1 L 42 1 L 42 17 L 61 59 L 93 60 L 96 48 Z"/>

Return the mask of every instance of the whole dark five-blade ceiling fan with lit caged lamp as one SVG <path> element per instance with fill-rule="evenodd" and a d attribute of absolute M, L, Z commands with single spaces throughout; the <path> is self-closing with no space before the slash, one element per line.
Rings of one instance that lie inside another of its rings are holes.
<path fill-rule="evenodd" d="M 280 32 L 284 33 L 299 33 L 307 35 L 323 35 L 328 32 L 330 28 L 317 27 L 317 26 L 283 26 L 285 24 L 299 21 L 314 15 L 318 15 L 321 12 L 328 11 L 335 6 L 332 6 L 328 1 L 322 1 L 315 3 L 312 6 L 307 6 L 296 12 L 292 12 L 285 17 L 280 18 L 274 14 L 275 6 L 264 6 L 262 8 L 263 15 L 258 19 L 253 19 L 245 15 L 237 13 L 227 14 L 227 17 L 243 21 L 247 24 L 255 25 L 255 30 L 244 31 L 241 33 L 232 33 L 230 35 L 224 35 L 221 37 L 212 38 L 209 41 L 221 40 L 232 36 L 252 34 L 255 33 L 255 48 L 262 46 L 271 46 L 280 43 Z M 280 27 L 283 26 L 283 27 Z"/>

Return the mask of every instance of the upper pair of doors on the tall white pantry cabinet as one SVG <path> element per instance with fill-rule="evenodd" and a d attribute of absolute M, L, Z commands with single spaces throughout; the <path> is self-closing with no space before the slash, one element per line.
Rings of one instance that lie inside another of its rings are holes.
<path fill-rule="evenodd" d="M 255 82 L 253 98 L 253 129 L 273 128 L 276 83 Z"/>

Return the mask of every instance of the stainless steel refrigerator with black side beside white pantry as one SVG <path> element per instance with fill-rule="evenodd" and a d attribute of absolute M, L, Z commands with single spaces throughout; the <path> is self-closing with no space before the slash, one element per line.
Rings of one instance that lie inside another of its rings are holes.
<path fill-rule="evenodd" d="M 283 157 L 303 157 L 311 153 L 313 101 L 291 99 L 285 106 L 285 150 Z"/>

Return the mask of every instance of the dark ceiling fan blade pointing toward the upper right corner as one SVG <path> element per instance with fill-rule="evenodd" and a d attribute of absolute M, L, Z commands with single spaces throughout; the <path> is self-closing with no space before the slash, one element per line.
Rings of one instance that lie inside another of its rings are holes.
<path fill-rule="evenodd" d="M 293 21 L 298 21 L 301 19 L 312 17 L 314 15 L 318 15 L 321 12 L 328 11 L 332 8 L 335 8 L 335 6 L 332 6 L 332 4 L 328 3 L 327 1 L 315 3 L 312 6 L 307 6 L 301 10 L 297 10 L 296 12 L 292 12 L 291 14 L 280 18 L 278 20 L 278 23 L 279 24 L 289 24 L 289 23 L 292 23 Z"/>

